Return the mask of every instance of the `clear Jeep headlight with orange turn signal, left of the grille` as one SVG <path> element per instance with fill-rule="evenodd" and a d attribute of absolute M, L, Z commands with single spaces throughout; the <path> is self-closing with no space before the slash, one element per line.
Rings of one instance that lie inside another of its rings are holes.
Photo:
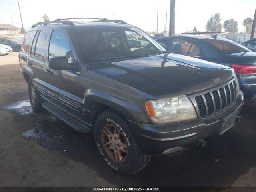
<path fill-rule="evenodd" d="M 197 118 L 195 109 L 187 96 L 148 100 L 146 111 L 156 124 L 173 123 Z"/>

